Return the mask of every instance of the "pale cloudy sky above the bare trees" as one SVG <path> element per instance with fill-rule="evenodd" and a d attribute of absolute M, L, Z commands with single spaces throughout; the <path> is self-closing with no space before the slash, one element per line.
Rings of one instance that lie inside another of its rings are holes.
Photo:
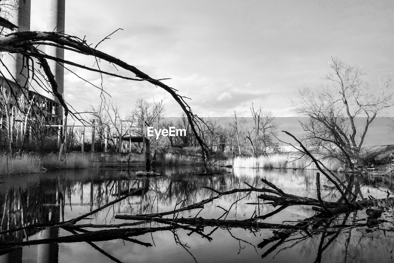
<path fill-rule="evenodd" d="M 46 30 L 46 5 L 32 0 L 31 30 Z M 330 56 L 364 67 L 371 88 L 378 86 L 376 70 L 394 68 L 393 9 L 393 1 L 359 0 L 67 0 L 65 31 L 96 45 L 123 28 L 98 49 L 151 77 L 172 78 L 165 83 L 191 98 L 200 116 L 234 109 L 249 116 L 252 102 L 274 116 L 294 116 L 294 90 L 322 83 Z M 66 52 L 65 59 L 79 58 Z M 97 74 L 77 72 L 100 83 Z M 180 116 L 170 96 L 149 83 L 108 77 L 103 85 L 124 112 L 139 98 L 165 96 L 166 116 Z M 100 101 L 97 89 L 69 72 L 64 96 L 80 111 Z"/>

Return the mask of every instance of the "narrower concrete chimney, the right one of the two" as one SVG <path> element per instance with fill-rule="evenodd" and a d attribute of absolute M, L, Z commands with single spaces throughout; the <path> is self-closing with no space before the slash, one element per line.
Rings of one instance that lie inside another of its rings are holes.
<path fill-rule="evenodd" d="M 48 1 L 48 21 L 46 24 L 46 31 L 48 32 L 62 32 L 64 33 L 64 14 L 65 14 L 65 0 L 50 0 Z M 64 59 L 64 49 L 59 47 L 46 46 L 45 52 L 56 58 Z M 64 90 L 64 68 L 63 64 L 56 61 L 48 60 L 50 69 L 55 75 L 56 83 L 58 83 L 58 92 L 63 95 Z M 54 101 L 59 100 L 52 96 Z"/>

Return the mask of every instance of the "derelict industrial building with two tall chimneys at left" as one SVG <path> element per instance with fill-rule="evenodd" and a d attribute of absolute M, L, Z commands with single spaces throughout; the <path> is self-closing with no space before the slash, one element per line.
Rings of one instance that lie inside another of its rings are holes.
<path fill-rule="evenodd" d="M 18 0 L 15 1 L 16 6 L 9 8 L 9 21 L 18 26 L 15 31 L 30 31 L 30 10 L 31 0 Z M 13 4 L 13 3 L 8 3 Z M 47 26 L 46 31 L 64 32 L 65 24 L 65 0 L 48 0 L 48 14 L 47 14 Z M 47 45 L 45 53 L 57 58 L 64 59 L 64 49 Z M 33 110 L 35 110 L 35 116 L 45 115 L 45 121 L 48 124 L 55 125 L 50 130 L 52 133 L 61 133 L 60 129 L 57 129 L 62 124 L 63 109 L 59 103 L 59 100 L 54 94 L 49 92 L 40 92 L 38 88 L 35 89 L 32 83 L 31 77 L 32 72 L 29 71 L 28 61 L 26 58 L 19 53 L 3 53 L 1 54 L 2 62 L 4 66 L 0 65 L 0 88 L 2 89 L 2 97 L 6 97 L 2 101 L 0 107 L 7 107 L 8 109 L 2 110 L 0 116 L 0 128 L 4 129 L 6 126 L 8 134 L 2 132 L 0 137 L 0 144 L 6 141 L 22 141 L 22 137 L 26 136 L 30 138 L 31 128 L 27 128 L 26 121 L 20 120 L 20 116 L 16 116 L 15 112 L 15 97 L 20 98 L 20 101 L 25 101 L 25 104 L 32 103 Z M 48 60 L 48 64 L 51 68 L 52 73 L 55 76 L 55 80 L 58 84 L 58 92 L 63 95 L 64 90 L 64 68 L 58 62 Z M 31 70 L 31 69 L 30 69 Z M 10 95 L 13 93 L 13 96 Z M 9 98 L 7 98 L 9 97 Z M 11 101 L 13 100 L 13 102 Z M 37 115 L 38 114 L 38 115 Z M 9 117 L 7 118 L 7 115 Z M 6 122 L 7 120 L 7 122 Z M 25 126 L 25 127 L 24 127 Z M 11 130 L 11 135 L 8 130 Z M 15 130 L 16 129 L 16 130 Z M 15 130 L 15 131 L 14 131 Z M 18 140 L 18 138 L 20 138 Z M 14 143 L 15 144 L 15 143 Z M 59 144 L 59 142 L 58 142 Z M 15 145 L 17 147 L 18 145 Z M 59 145 L 58 145 L 59 146 Z"/>

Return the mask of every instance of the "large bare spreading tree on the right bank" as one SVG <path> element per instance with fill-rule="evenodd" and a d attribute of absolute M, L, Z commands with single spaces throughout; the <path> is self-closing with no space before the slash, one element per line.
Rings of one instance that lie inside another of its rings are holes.
<path fill-rule="evenodd" d="M 309 146 L 353 168 L 355 163 L 366 162 L 361 150 L 370 124 L 394 104 L 392 71 L 379 72 L 380 88 L 370 90 L 359 66 L 332 57 L 329 67 L 331 71 L 324 76 L 329 85 L 300 88 L 292 103 L 297 113 L 309 117 L 301 122 Z M 363 121 L 357 122 L 357 117 L 364 117 Z"/>

